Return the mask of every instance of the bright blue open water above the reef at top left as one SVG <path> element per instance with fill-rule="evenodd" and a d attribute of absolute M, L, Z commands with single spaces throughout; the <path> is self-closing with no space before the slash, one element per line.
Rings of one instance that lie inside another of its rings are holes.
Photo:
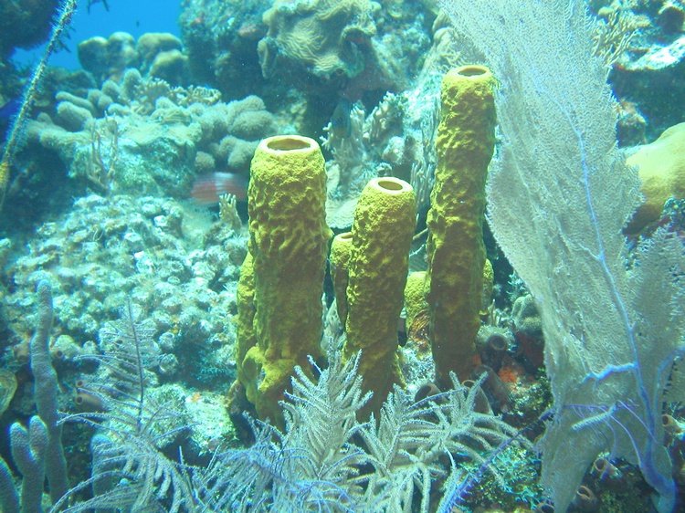
<path fill-rule="evenodd" d="M 90 5 L 80 0 L 79 8 L 68 30 L 69 38 L 64 42 L 70 52 L 61 50 L 48 61 L 50 66 L 79 69 L 77 46 L 89 37 L 110 37 L 112 32 L 128 32 L 136 39 L 146 32 L 171 32 L 180 37 L 178 16 L 180 2 L 168 0 L 108 0 L 110 10 L 102 2 Z M 42 56 L 45 46 L 31 50 L 17 50 L 13 56 L 16 63 L 32 65 Z"/>

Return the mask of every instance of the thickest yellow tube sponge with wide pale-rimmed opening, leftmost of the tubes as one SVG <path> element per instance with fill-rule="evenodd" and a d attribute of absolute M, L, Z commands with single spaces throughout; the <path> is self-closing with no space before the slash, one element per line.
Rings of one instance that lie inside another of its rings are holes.
<path fill-rule="evenodd" d="M 248 187 L 249 251 L 255 273 L 257 345 L 242 361 L 260 418 L 282 427 L 279 401 L 296 365 L 321 357 L 323 275 L 332 236 L 326 173 L 316 141 L 295 135 L 259 142 Z"/>

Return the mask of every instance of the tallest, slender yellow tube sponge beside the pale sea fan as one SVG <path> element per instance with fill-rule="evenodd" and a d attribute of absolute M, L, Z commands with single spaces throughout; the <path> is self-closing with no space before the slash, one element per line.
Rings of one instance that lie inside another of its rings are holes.
<path fill-rule="evenodd" d="M 437 167 L 427 226 L 426 300 L 436 380 L 469 378 L 483 292 L 485 181 L 495 145 L 494 84 L 488 68 L 450 70 L 442 82 Z"/>

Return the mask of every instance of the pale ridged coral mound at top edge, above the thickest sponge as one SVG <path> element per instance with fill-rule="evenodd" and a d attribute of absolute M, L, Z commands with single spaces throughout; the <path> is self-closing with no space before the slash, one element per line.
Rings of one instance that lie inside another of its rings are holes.
<path fill-rule="evenodd" d="M 276 0 L 264 13 L 269 33 L 258 44 L 265 77 L 275 74 L 282 55 L 311 73 L 353 78 L 364 70 L 364 52 L 375 34 L 369 0 Z"/>

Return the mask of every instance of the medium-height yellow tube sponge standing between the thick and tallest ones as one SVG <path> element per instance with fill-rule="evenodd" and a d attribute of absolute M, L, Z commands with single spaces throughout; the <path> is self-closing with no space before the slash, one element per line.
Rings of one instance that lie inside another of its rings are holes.
<path fill-rule="evenodd" d="M 364 390 L 373 398 L 361 413 L 380 410 L 395 383 L 403 383 L 397 359 L 397 323 L 404 302 L 409 251 L 416 224 L 414 189 L 393 177 L 374 178 L 354 210 L 347 286 L 347 341 L 359 363 Z"/>

